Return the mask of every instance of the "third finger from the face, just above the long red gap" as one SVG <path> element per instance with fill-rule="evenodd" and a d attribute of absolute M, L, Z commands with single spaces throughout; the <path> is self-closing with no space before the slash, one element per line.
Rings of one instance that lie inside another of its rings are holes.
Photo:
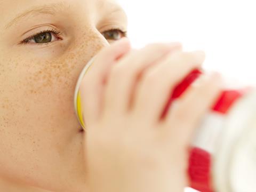
<path fill-rule="evenodd" d="M 137 115 L 147 115 L 153 122 L 157 122 L 169 100 L 174 86 L 194 68 L 198 68 L 204 61 L 204 53 L 175 52 L 164 61 L 150 68 L 138 85 L 135 93 L 134 111 Z"/>

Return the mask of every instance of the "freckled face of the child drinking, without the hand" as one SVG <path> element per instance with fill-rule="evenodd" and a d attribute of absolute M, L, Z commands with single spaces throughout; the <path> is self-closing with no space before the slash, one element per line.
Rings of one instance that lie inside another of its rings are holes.
<path fill-rule="evenodd" d="M 0 179 L 82 191 L 74 89 L 87 61 L 122 36 L 102 34 L 126 30 L 125 14 L 112 0 L 1 0 L 0 12 Z"/>

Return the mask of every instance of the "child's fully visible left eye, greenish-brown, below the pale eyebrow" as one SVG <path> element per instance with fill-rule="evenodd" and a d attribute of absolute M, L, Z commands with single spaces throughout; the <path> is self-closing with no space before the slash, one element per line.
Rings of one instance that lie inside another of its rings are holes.
<path fill-rule="evenodd" d="M 31 43 L 31 44 L 46 44 L 51 43 L 54 41 L 58 41 L 60 35 L 59 32 L 55 30 L 46 30 L 41 31 L 35 35 L 31 35 L 30 37 L 26 38 L 22 41 L 23 44 Z"/>

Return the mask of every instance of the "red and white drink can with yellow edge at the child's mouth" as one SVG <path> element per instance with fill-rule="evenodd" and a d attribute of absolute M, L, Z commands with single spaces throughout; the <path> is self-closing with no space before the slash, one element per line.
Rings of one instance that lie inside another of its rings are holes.
<path fill-rule="evenodd" d="M 79 85 L 93 58 L 80 74 L 74 105 L 85 129 Z M 201 74 L 194 69 L 171 92 L 163 109 L 165 116 L 175 99 Z M 256 91 L 251 87 L 222 90 L 205 114 L 191 143 L 188 159 L 189 186 L 202 192 L 256 191 Z"/>

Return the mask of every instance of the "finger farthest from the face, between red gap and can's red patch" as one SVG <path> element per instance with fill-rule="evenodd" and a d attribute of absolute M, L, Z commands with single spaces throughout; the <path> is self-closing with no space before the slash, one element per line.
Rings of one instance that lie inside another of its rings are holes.
<path fill-rule="evenodd" d="M 189 144 L 191 137 L 204 115 L 216 102 L 221 91 L 221 78 L 218 73 L 202 75 L 177 99 L 163 121 L 164 134 L 179 138 Z M 173 125 L 177 126 L 173 126 Z"/>

